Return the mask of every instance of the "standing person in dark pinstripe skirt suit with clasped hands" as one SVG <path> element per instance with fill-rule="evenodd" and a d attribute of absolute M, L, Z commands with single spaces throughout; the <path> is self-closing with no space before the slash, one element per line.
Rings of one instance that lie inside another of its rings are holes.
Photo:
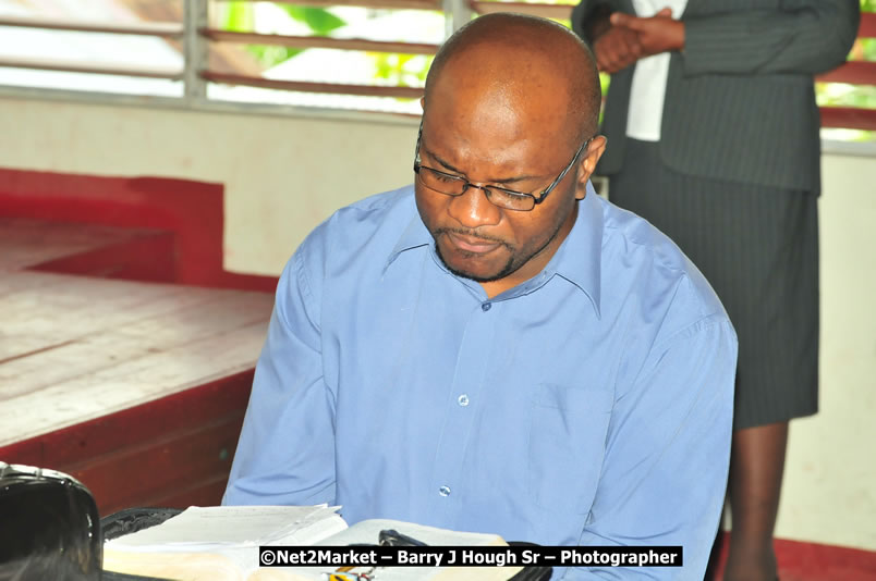
<path fill-rule="evenodd" d="M 817 411 L 819 119 L 857 0 L 583 0 L 611 73 L 597 173 L 668 234 L 740 337 L 727 581 L 772 581 L 788 421 Z"/>

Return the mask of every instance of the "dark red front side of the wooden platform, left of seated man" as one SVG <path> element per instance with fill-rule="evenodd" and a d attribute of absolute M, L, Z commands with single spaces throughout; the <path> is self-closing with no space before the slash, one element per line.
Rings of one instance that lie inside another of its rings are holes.
<path fill-rule="evenodd" d="M 131 506 L 221 500 L 253 370 L 0 447 L 0 458 L 60 470 L 95 495 L 101 515 Z"/>

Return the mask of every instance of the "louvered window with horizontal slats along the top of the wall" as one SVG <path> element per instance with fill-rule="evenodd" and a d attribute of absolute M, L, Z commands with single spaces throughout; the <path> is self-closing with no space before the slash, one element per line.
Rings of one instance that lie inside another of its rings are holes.
<path fill-rule="evenodd" d="M 832 136 L 876 131 L 876 13 L 850 62 L 818 78 Z M 0 0 L 0 90 L 185 107 L 416 115 L 440 42 L 478 14 L 564 22 L 570 3 L 492 0 Z M 837 131 L 839 129 L 839 131 Z"/>

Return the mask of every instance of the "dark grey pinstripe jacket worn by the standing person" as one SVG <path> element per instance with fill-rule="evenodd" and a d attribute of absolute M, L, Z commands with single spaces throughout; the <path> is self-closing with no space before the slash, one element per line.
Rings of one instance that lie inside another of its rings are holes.
<path fill-rule="evenodd" d="M 582 0 L 572 27 L 588 42 L 592 11 L 635 14 L 632 0 Z M 660 132 L 664 163 L 689 175 L 820 189 L 813 75 L 845 60 L 859 0 L 689 0 L 685 47 L 670 57 Z M 623 163 L 634 66 L 611 77 L 597 169 Z"/>

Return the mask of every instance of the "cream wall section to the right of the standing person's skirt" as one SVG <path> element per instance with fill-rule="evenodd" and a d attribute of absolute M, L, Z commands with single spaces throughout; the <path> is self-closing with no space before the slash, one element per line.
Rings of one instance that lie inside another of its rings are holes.
<path fill-rule="evenodd" d="M 876 157 L 822 168 L 820 412 L 791 423 L 776 534 L 876 549 Z"/>

